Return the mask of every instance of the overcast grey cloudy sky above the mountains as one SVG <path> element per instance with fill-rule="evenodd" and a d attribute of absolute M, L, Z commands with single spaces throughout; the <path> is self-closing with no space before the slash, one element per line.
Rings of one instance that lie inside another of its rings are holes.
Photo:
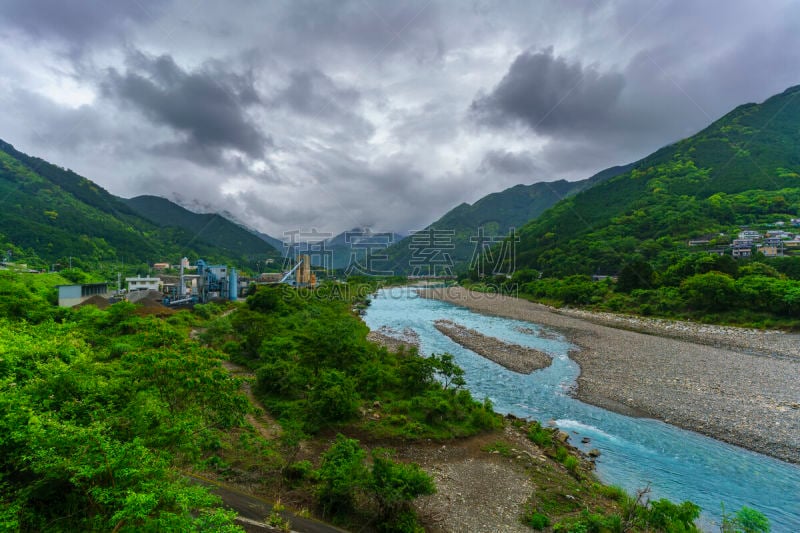
<path fill-rule="evenodd" d="M 0 138 L 281 236 L 420 229 L 800 83 L 795 0 L 0 0 Z"/>

